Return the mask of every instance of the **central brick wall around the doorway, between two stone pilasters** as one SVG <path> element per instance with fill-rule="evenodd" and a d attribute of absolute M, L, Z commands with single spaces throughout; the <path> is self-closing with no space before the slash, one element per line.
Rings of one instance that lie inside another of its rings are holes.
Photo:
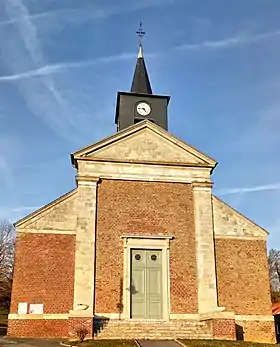
<path fill-rule="evenodd" d="M 102 180 L 97 192 L 96 312 L 118 312 L 123 281 L 121 235 L 174 235 L 171 313 L 197 313 L 194 207 L 189 184 Z"/>

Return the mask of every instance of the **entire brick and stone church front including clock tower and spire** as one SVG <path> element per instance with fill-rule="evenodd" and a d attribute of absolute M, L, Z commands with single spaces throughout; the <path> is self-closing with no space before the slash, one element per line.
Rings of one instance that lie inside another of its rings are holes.
<path fill-rule="evenodd" d="M 275 342 L 268 233 L 212 193 L 217 162 L 168 132 L 142 53 L 117 132 L 76 188 L 15 223 L 8 335 Z"/>

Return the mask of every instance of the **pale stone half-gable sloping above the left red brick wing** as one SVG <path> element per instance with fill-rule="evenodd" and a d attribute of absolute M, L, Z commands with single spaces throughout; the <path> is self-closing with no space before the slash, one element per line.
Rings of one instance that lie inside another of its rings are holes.
<path fill-rule="evenodd" d="M 76 192 L 74 189 L 39 210 L 17 221 L 16 229 L 28 230 L 75 230 Z"/>

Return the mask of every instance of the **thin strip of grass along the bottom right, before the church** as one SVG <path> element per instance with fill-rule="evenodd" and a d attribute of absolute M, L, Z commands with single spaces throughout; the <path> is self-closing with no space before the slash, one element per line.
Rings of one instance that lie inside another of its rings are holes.
<path fill-rule="evenodd" d="M 179 340 L 186 347 L 271 347 L 275 344 L 224 340 Z"/>

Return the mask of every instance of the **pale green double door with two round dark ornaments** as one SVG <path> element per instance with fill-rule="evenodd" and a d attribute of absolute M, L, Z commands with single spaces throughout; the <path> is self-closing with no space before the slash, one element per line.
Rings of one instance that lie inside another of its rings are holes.
<path fill-rule="evenodd" d="M 162 319 L 162 252 L 131 250 L 131 318 Z"/>

